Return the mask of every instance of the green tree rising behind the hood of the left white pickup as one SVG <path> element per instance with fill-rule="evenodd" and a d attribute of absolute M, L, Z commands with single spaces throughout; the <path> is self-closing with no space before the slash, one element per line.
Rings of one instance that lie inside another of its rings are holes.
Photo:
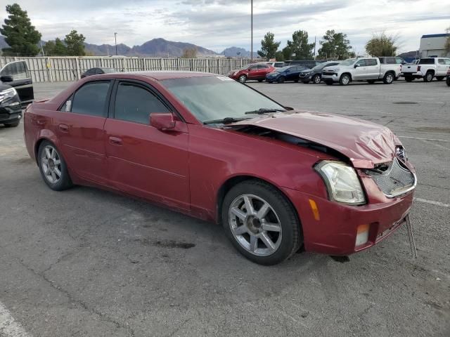
<path fill-rule="evenodd" d="M 327 30 L 320 44 L 319 58 L 344 60 L 354 55 L 351 51 L 352 46 L 350 46 L 350 41 L 347 39 L 347 34 L 344 33 Z"/>

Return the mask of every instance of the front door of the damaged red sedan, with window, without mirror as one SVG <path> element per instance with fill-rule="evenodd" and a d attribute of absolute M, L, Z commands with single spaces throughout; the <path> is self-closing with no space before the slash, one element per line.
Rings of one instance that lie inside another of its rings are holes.
<path fill-rule="evenodd" d="M 153 112 L 172 108 L 148 84 L 117 81 L 105 123 L 109 177 L 119 190 L 180 209 L 189 208 L 188 130 L 150 126 Z"/>

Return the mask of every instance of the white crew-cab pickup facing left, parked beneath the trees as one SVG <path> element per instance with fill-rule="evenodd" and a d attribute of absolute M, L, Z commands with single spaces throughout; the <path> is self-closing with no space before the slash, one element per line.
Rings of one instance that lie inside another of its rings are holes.
<path fill-rule="evenodd" d="M 378 58 L 349 58 L 339 65 L 323 68 L 322 80 L 328 85 L 338 82 L 341 86 L 352 81 L 392 84 L 400 71 L 400 65 L 381 65 Z"/>

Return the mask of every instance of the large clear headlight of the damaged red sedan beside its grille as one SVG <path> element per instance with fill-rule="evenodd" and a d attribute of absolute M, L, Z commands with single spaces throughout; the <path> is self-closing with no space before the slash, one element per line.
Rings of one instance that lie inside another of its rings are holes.
<path fill-rule="evenodd" d="M 366 203 L 361 183 L 352 166 L 342 161 L 324 160 L 316 164 L 314 169 L 325 181 L 330 200 L 354 205 Z"/>

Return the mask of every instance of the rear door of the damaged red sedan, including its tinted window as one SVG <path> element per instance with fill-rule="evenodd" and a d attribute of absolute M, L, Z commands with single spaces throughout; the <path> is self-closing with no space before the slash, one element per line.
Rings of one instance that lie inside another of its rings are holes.
<path fill-rule="evenodd" d="M 89 81 L 60 108 L 56 133 L 68 166 L 94 183 L 108 184 L 105 125 L 112 81 Z"/>

